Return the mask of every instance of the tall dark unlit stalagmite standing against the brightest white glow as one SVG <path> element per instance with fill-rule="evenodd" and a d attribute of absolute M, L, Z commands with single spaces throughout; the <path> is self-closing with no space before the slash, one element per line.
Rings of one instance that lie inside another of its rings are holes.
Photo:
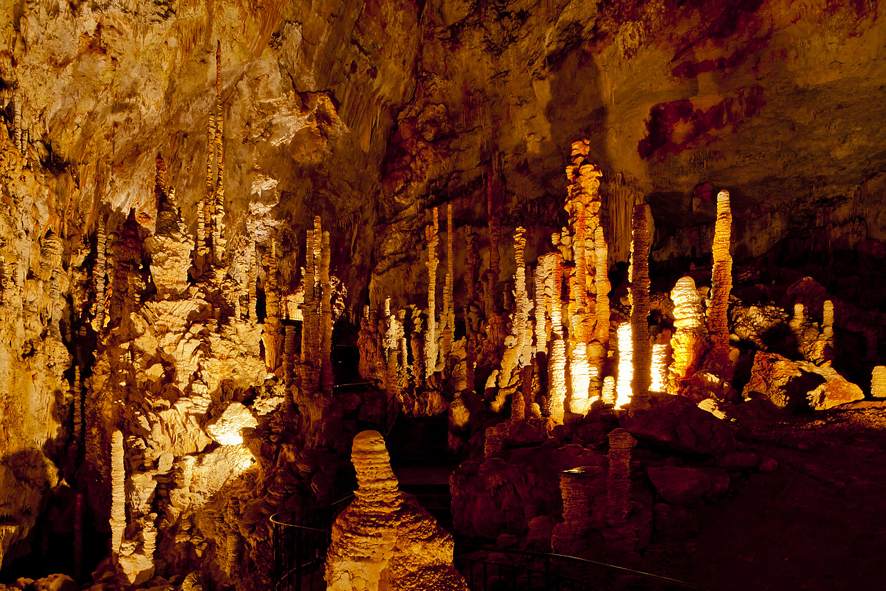
<path fill-rule="evenodd" d="M 633 343 L 632 408 L 648 404 L 651 382 L 649 347 L 649 205 L 633 208 L 633 240 L 628 281 L 631 284 L 631 337 Z"/>

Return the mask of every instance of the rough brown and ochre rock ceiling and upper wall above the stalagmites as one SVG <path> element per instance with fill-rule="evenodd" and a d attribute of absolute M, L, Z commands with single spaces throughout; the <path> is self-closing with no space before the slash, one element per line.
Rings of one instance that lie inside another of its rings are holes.
<path fill-rule="evenodd" d="M 728 188 L 746 220 L 741 258 L 802 225 L 805 204 L 858 201 L 879 178 L 882 11 L 875 0 L 7 0 L 0 104 L 10 128 L 20 105 L 36 157 L 70 178 L 57 197 L 66 219 L 53 222 L 68 234 L 102 207 L 136 209 L 150 227 L 157 154 L 194 231 L 219 41 L 229 231 L 252 203 L 297 248 L 322 215 L 352 283 L 415 257 L 429 205 L 454 201 L 458 225 L 482 227 L 490 171 L 505 225 L 558 227 L 580 138 L 604 178 L 620 174 L 650 203 L 660 235 L 709 224 L 699 205 Z M 879 214 L 867 223 L 882 239 Z M 284 279 L 296 266 L 282 265 Z"/>

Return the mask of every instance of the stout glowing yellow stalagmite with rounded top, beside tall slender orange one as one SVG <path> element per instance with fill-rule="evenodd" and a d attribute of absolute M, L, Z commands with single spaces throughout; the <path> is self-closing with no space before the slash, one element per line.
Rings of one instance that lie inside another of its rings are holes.
<path fill-rule="evenodd" d="M 668 392 L 682 395 L 685 382 L 696 372 L 704 343 L 704 319 L 701 296 L 691 277 L 677 281 L 671 292 L 674 335 L 671 338 L 673 361 L 668 370 Z"/>

